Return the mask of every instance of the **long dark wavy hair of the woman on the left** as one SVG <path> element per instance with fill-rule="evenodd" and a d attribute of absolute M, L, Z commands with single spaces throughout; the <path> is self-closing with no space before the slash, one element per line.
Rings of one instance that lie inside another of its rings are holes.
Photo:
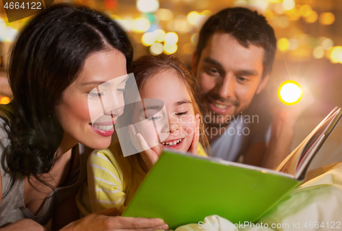
<path fill-rule="evenodd" d="M 53 167 L 63 137 L 55 106 L 90 53 L 109 49 L 121 51 L 130 66 L 133 48 L 124 30 L 100 12 L 81 6 L 53 5 L 25 26 L 8 67 L 14 119 L 6 125 L 7 171 L 44 183 L 39 174 Z"/>

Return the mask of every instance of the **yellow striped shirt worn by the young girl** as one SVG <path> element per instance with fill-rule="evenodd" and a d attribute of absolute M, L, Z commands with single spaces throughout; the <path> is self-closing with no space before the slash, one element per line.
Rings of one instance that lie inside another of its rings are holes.
<path fill-rule="evenodd" d="M 198 156 L 207 156 L 198 145 Z M 93 151 L 88 158 L 88 189 L 92 212 L 116 207 L 121 212 L 131 201 L 146 173 L 137 155 L 124 157 L 118 142 Z"/>

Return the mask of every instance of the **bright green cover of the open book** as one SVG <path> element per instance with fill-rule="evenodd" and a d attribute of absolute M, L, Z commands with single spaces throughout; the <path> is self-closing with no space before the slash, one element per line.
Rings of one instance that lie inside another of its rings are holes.
<path fill-rule="evenodd" d="M 157 217 L 174 229 L 219 215 L 254 222 L 300 181 L 235 162 L 163 151 L 122 216 Z"/>

